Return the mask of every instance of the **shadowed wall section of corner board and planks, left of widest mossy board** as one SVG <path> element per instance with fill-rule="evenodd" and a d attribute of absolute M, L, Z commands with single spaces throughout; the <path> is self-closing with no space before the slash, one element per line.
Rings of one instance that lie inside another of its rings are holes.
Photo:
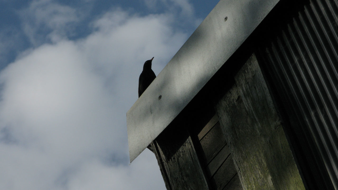
<path fill-rule="evenodd" d="M 242 190 L 213 106 L 197 107 L 152 143 L 167 189 Z"/>

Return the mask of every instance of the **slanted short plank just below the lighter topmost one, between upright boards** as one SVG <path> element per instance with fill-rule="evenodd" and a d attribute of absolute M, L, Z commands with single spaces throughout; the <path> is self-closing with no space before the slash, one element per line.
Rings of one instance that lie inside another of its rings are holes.
<path fill-rule="evenodd" d="M 220 126 L 219 122 L 200 140 L 206 163 L 217 155 L 217 153 L 226 144 L 224 129 Z"/>

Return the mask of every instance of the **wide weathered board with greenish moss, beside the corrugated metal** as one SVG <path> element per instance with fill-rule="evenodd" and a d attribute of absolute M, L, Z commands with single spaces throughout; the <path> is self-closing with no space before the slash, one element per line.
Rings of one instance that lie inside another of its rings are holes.
<path fill-rule="evenodd" d="M 244 189 L 303 190 L 256 56 L 216 105 Z"/>

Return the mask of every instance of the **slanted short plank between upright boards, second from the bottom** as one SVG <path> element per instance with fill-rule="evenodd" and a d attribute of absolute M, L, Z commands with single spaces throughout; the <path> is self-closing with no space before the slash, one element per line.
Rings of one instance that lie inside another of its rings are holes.
<path fill-rule="evenodd" d="M 232 156 L 230 156 L 212 176 L 210 183 L 214 189 L 221 190 L 231 181 L 234 175 L 237 175 L 237 171 Z"/>

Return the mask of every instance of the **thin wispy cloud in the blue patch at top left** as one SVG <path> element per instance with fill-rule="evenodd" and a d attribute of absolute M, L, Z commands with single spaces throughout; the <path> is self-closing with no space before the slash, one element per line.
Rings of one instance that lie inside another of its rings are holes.
<path fill-rule="evenodd" d="M 47 40 L 58 42 L 67 39 L 82 15 L 78 10 L 52 0 L 33 0 L 29 7 L 18 11 L 18 14 L 23 20 L 23 32 L 33 46 L 39 46 Z"/>

